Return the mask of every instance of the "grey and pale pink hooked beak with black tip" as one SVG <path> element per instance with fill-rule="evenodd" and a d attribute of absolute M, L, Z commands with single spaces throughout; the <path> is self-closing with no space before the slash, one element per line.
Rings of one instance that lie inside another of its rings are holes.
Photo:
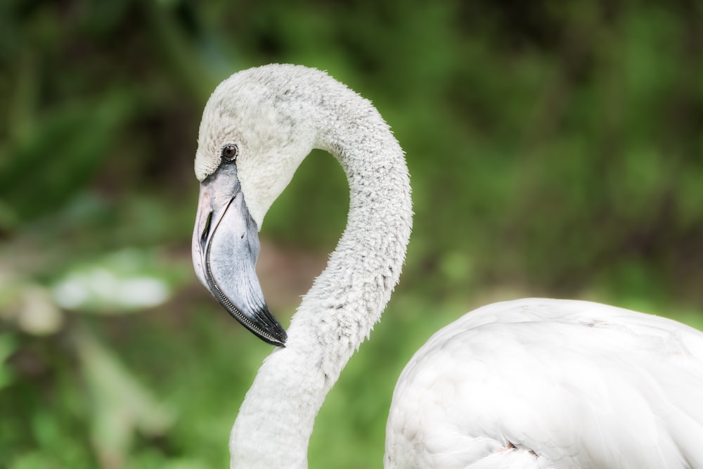
<path fill-rule="evenodd" d="M 266 306 L 254 269 L 259 248 L 236 165 L 221 165 L 200 184 L 192 245 L 195 275 L 237 321 L 264 342 L 282 347 L 285 330 Z"/>

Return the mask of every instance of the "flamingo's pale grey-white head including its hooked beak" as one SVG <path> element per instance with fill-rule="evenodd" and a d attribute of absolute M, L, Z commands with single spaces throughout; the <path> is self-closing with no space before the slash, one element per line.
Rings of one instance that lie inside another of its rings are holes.
<path fill-rule="evenodd" d="M 301 87 L 299 76 L 311 73 L 314 81 L 310 69 L 269 65 L 226 79 L 205 105 L 195 153 L 195 274 L 240 323 L 278 346 L 285 344 L 285 330 L 266 306 L 254 270 L 258 231 L 316 146 L 314 120 L 304 118 L 309 99 L 301 98 L 310 87 Z"/>

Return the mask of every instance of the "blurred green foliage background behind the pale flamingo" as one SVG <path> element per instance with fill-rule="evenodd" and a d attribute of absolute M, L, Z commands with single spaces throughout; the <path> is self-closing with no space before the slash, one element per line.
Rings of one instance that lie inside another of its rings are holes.
<path fill-rule="evenodd" d="M 581 297 L 703 328 L 702 24 L 695 0 L 1 2 L 0 467 L 226 467 L 270 347 L 191 273 L 191 166 L 209 93 L 262 63 L 370 98 L 414 190 L 401 285 L 311 466 L 380 467 L 402 366 L 471 307 Z M 346 212 L 315 153 L 262 237 L 318 265 Z"/>

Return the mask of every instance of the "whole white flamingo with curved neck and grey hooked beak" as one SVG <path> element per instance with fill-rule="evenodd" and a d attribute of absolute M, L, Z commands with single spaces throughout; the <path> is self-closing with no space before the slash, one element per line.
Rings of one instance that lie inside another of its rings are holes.
<path fill-rule="evenodd" d="M 254 272 L 257 231 L 313 148 L 344 168 L 349 216 L 286 335 Z M 373 105 L 347 86 L 318 70 L 266 65 L 232 75 L 207 101 L 195 174 L 195 272 L 244 326 L 280 346 L 240 408 L 231 467 L 305 468 L 325 394 L 399 279 L 412 224 L 404 153 Z M 406 366 L 384 463 L 703 468 L 703 333 L 582 301 L 472 311 Z"/>

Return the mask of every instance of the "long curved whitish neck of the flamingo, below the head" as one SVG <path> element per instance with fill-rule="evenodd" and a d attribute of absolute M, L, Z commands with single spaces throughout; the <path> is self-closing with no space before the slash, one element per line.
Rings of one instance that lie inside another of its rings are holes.
<path fill-rule="evenodd" d="M 318 147 L 349 180 L 347 227 L 293 316 L 286 347 L 266 358 L 247 392 L 230 438 L 232 467 L 307 467 L 315 416 L 380 319 L 410 237 L 404 154 L 378 111 L 344 87 L 316 116 Z"/>

